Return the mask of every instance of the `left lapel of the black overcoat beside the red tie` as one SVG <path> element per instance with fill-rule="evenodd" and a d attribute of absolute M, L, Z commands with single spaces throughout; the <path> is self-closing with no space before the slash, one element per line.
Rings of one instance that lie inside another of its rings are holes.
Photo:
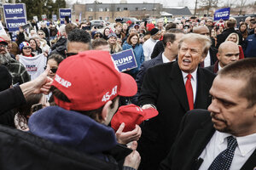
<path fill-rule="evenodd" d="M 189 101 L 187 98 L 186 88 L 183 81 L 183 74 L 177 65 L 177 61 L 172 64 L 172 70 L 170 72 L 172 79 L 172 91 L 183 105 L 185 111 L 189 111 Z"/>

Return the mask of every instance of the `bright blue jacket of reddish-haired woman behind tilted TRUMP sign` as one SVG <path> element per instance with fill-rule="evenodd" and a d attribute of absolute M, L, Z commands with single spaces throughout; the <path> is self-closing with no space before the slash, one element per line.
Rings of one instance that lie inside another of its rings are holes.
<path fill-rule="evenodd" d="M 132 46 L 129 43 L 124 42 L 123 50 L 130 49 L 130 48 L 132 48 Z M 133 50 L 133 54 L 135 55 L 135 58 L 136 58 L 137 68 L 134 68 L 131 71 L 128 71 L 128 73 L 137 74 L 140 66 L 143 64 L 143 61 L 144 61 L 143 46 L 142 46 L 142 44 L 137 44 L 135 46 L 135 48 L 132 48 L 132 50 Z"/>

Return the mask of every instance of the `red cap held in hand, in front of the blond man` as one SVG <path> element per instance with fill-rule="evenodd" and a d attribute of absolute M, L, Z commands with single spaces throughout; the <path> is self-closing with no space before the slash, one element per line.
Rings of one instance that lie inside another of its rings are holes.
<path fill-rule="evenodd" d="M 111 127 L 117 131 L 122 122 L 125 122 L 123 132 L 131 131 L 135 125 L 141 124 L 143 121 L 158 115 L 158 111 L 154 108 L 142 109 L 137 105 L 123 105 L 119 107 L 119 111 L 111 120 Z"/>

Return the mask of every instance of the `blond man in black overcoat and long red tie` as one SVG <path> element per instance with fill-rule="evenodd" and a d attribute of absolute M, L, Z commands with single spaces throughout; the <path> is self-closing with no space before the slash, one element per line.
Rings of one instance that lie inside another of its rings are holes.
<path fill-rule="evenodd" d="M 207 109 L 209 89 L 215 75 L 199 63 L 207 55 L 211 40 L 199 34 L 184 35 L 178 43 L 177 62 L 149 68 L 143 81 L 139 103 L 156 107 L 159 116 L 143 122 L 138 150 L 141 169 L 155 170 L 171 149 L 183 115 L 194 108 Z"/>

